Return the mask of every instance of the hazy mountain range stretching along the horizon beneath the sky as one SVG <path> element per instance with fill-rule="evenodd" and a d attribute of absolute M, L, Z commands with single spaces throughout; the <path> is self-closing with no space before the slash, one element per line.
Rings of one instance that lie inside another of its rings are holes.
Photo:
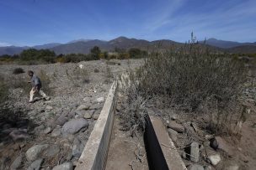
<path fill-rule="evenodd" d="M 256 53 L 256 42 L 255 43 L 238 43 L 233 41 L 224 41 L 218 39 L 207 39 L 200 41 L 200 44 L 207 44 L 211 48 L 226 51 L 228 53 Z M 110 51 L 115 48 L 118 49 L 131 49 L 138 48 L 144 50 L 155 50 L 155 49 L 169 49 L 171 46 L 181 46 L 182 43 L 175 42 L 169 39 L 160 39 L 155 41 L 147 41 L 144 39 L 128 39 L 126 37 L 119 37 L 109 41 L 103 41 L 99 39 L 77 39 L 67 44 L 42 44 L 36 46 L 7 46 L 0 47 L 0 55 L 3 54 L 19 54 L 24 49 L 50 49 L 55 51 L 56 54 L 88 54 L 93 46 L 99 46 L 102 51 Z"/>

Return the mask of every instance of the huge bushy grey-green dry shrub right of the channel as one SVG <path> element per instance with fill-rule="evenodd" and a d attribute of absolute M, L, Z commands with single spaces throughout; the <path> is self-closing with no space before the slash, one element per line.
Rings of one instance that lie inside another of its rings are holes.
<path fill-rule="evenodd" d="M 137 92 L 187 113 L 205 114 L 213 133 L 232 130 L 240 119 L 238 97 L 245 81 L 243 64 L 202 44 L 152 53 L 137 71 Z"/>

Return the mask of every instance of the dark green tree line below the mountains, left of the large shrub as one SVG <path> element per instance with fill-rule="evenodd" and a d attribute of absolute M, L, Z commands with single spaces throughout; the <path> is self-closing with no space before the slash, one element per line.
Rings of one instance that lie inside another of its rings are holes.
<path fill-rule="evenodd" d="M 0 55 L 2 62 L 19 63 L 77 63 L 80 61 L 98 60 L 98 59 L 138 59 L 147 55 L 147 51 L 131 48 L 125 49 L 115 48 L 113 51 L 101 51 L 98 46 L 90 49 L 89 54 L 56 54 L 50 49 L 24 49 L 20 54 L 3 54 Z"/>

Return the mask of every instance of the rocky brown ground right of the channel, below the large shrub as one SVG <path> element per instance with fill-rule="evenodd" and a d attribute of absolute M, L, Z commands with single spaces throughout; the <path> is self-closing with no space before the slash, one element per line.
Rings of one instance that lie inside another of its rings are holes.
<path fill-rule="evenodd" d="M 159 109 L 152 115 L 163 118 L 168 134 L 189 170 L 253 170 L 256 167 L 256 78 L 243 90 L 242 102 L 247 115 L 238 135 L 216 136 L 205 129 L 205 115 Z"/>

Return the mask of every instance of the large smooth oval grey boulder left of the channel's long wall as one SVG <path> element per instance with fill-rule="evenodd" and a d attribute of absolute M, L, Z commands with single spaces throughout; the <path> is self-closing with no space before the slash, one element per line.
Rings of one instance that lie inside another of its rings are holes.
<path fill-rule="evenodd" d="M 61 133 L 62 134 L 74 134 L 79 131 L 83 127 L 88 127 L 89 123 L 83 118 L 80 119 L 72 119 L 71 121 L 67 121 L 64 126 L 62 126 Z"/>

